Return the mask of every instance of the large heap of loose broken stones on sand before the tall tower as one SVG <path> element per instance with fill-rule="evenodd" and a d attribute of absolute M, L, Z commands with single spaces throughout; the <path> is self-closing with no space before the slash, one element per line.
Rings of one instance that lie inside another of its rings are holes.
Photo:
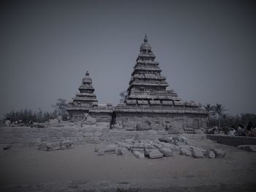
<path fill-rule="evenodd" d="M 137 158 L 162 158 L 173 157 L 176 154 L 193 158 L 224 158 L 225 152 L 219 149 L 203 149 L 202 147 L 187 145 L 187 137 L 159 137 L 157 140 L 125 139 L 114 145 L 95 147 L 97 155 L 116 154 L 125 155 L 131 152 Z"/>

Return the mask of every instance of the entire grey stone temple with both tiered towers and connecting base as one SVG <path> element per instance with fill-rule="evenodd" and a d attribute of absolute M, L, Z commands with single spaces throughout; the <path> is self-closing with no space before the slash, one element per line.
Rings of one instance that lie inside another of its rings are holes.
<path fill-rule="evenodd" d="M 88 112 L 99 121 L 108 120 L 113 128 L 148 130 L 183 128 L 187 133 L 206 127 L 208 112 L 195 101 L 181 101 L 177 93 L 167 89 L 159 62 L 148 38 L 140 45 L 124 103 L 116 107 L 98 106 L 89 73 L 83 78 L 78 93 L 67 111 L 73 120 Z"/>

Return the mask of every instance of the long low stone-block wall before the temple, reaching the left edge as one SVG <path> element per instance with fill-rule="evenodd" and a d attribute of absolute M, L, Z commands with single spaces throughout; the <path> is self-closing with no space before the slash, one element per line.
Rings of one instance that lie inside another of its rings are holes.
<path fill-rule="evenodd" d="M 149 131 L 124 131 L 110 129 L 109 127 L 91 126 L 77 127 L 1 127 L 0 144 L 12 144 L 18 146 L 34 146 L 40 142 L 56 142 L 71 140 L 74 144 L 116 142 L 124 139 L 157 139 L 167 134 L 164 130 Z"/>

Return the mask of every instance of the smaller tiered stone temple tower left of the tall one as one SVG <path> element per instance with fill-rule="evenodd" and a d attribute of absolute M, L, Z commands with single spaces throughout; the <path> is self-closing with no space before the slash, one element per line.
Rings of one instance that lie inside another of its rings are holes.
<path fill-rule="evenodd" d="M 76 93 L 75 98 L 67 106 L 67 112 L 69 112 L 69 116 L 73 120 L 81 120 L 84 113 L 89 113 L 90 109 L 98 106 L 97 97 L 94 93 L 94 87 L 88 71 L 78 89 L 80 93 Z"/>

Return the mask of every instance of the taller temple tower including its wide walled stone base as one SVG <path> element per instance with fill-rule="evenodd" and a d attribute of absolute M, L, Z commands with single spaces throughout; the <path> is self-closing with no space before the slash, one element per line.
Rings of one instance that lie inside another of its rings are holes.
<path fill-rule="evenodd" d="M 135 128 L 144 122 L 153 129 L 168 125 L 187 129 L 187 132 L 206 127 L 208 112 L 195 101 L 181 101 L 175 91 L 167 89 L 166 77 L 162 76 L 159 62 L 155 61 L 148 37 L 145 36 L 143 41 L 127 97 L 113 110 L 113 122 L 124 128 Z"/>

